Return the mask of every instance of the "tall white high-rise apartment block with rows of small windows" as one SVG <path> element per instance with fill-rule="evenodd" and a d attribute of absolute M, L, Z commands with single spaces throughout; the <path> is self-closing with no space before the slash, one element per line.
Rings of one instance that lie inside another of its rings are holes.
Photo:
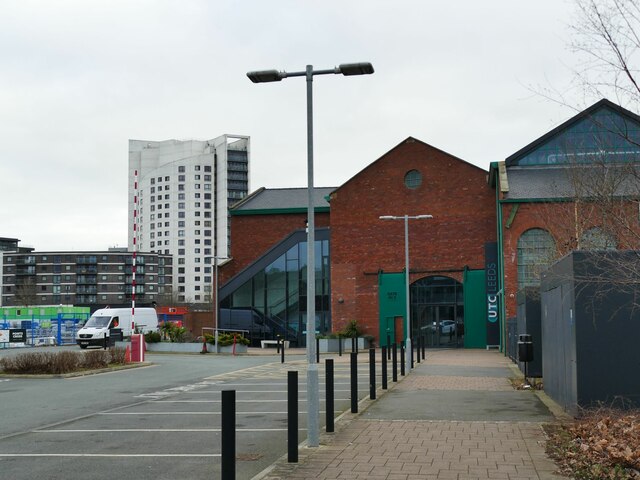
<path fill-rule="evenodd" d="M 135 222 L 138 250 L 173 256 L 175 300 L 209 302 L 214 257 L 229 252 L 229 207 L 248 191 L 248 136 L 129 140 L 129 250 Z"/>

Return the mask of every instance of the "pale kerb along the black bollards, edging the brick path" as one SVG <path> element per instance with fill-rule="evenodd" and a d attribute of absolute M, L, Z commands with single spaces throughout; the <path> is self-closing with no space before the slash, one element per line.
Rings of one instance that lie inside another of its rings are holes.
<path fill-rule="evenodd" d="M 263 471 L 261 471 L 257 475 L 253 476 L 251 480 L 262 480 L 263 478 L 267 477 L 271 472 L 273 472 L 275 468 L 278 468 L 278 470 L 280 470 L 283 474 L 287 474 L 294 471 L 300 465 L 303 465 L 306 462 L 308 457 L 318 452 L 319 449 L 330 446 L 337 433 L 347 428 L 351 422 L 353 422 L 356 418 L 360 417 L 364 412 L 366 412 L 366 410 L 371 405 L 377 402 L 380 398 L 384 397 L 384 395 L 386 395 L 387 392 L 390 392 L 391 390 L 395 389 L 407 377 L 408 375 L 404 377 L 399 376 L 397 382 L 389 382 L 387 384 L 386 390 L 383 390 L 382 387 L 377 387 L 375 400 L 371 400 L 369 396 L 367 396 L 358 402 L 358 413 L 351 413 L 351 410 L 347 409 L 344 412 L 342 412 L 340 415 L 338 415 L 338 417 L 335 419 L 335 424 L 334 424 L 335 431 L 331 433 L 322 432 L 320 434 L 320 446 L 313 447 L 313 448 L 307 447 L 306 440 L 298 444 L 298 462 L 297 463 L 289 463 L 288 455 L 284 454 L 282 457 L 277 459 L 273 464 L 265 468 Z M 283 478 L 286 478 L 286 476 Z"/>

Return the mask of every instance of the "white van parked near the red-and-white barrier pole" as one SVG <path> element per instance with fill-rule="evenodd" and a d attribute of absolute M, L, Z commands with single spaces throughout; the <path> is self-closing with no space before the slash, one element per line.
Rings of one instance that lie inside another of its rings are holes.
<path fill-rule="evenodd" d="M 139 332 L 146 333 L 158 329 L 158 315 L 153 308 L 136 308 L 134 321 Z M 103 346 L 105 334 L 109 338 L 111 328 L 120 328 L 123 337 L 130 337 L 133 333 L 131 323 L 130 308 L 101 308 L 78 330 L 76 343 L 80 348 Z"/>

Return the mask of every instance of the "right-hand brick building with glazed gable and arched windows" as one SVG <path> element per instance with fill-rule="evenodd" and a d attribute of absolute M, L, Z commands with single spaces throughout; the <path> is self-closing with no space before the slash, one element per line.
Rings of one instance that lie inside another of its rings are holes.
<path fill-rule="evenodd" d="M 640 248 L 638 145 L 640 117 L 603 99 L 491 165 L 501 319 L 567 253 Z"/>

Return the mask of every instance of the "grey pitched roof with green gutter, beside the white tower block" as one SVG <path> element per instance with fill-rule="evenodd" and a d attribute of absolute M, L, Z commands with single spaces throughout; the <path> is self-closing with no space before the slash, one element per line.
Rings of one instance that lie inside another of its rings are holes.
<path fill-rule="evenodd" d="M 326 200 L 336 187 L 314 188 L 315 208 L 329 207 Z M 308 193 L 306 188 L 261 188 L 234 205 L 231 210 L 281 210 L 307 208 Z"/>

